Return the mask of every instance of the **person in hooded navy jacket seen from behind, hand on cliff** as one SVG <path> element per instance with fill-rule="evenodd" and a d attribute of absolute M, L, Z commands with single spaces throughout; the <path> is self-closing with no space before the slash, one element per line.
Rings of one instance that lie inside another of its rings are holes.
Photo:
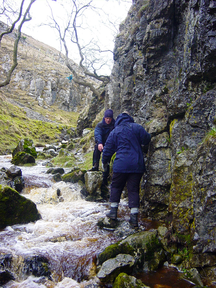
<path fill-rule="evenodd" d="M 146 170 L 142 145 L 148 145 L 150 141 L 151 135 L 141 125 L 134 123 L 130 113 L 125 111 L 116 118 L 115 128 L 109 134 L 103 150 L 102 168 L 104 171 L 116 152 L 110 185 L 111 210 L 106 216 L 117 219 L 118 204 L 127 183 L 128 206 L 131 209 L 128 222 L 134 227 L 138 226 L 139 184 Z"/>

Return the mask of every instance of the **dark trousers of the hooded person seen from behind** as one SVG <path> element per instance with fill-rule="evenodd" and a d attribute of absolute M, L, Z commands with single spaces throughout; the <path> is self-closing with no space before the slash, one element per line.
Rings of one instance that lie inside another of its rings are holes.
<path fill-rule="evenodd" d="M 122 191 L 127 183 L 129 208 L 139 207 L 139 184 L 143 173 L 115 173 L 113 172 L 110 185 L 109 202 L 120 202 Z"/>

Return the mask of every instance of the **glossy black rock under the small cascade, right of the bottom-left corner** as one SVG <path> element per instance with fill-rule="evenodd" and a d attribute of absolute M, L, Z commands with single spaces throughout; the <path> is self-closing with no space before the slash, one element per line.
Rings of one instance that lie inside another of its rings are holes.
<path fill-rule="evenodd" d="M 24 259 L 22 272 L 25 275 L 34 275 L 36 277 L 46 276 L 51 279 L 51 270 L 49 261 L 46 257 L 35 255 Z"/>

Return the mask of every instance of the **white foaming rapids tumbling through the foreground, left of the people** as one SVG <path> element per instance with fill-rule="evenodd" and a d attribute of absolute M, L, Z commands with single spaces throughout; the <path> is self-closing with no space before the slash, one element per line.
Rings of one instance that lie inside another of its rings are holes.
<path fill-rule="evenodd" d="M 96 274 L 96 254 L 118 240 L 97 226 L 107 204 L 86 202 L 79 185 L 64 182 L 31 189 L 24 196 L 37 204 L 42 219 L 0 232 L 0 254 L 12 255 L 15 277 L 7 287 L 48 287 L 37 283 L 38 269 L 52 287 L 81 287 L 79 282 Z"/>

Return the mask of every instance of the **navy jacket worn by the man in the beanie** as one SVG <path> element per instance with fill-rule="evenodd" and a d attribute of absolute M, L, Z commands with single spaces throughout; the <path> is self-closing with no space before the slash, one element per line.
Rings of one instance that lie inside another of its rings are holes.
<path fill-rule="evenodd" d="M 113 119 L 110 124 L 106 124 L 105 119 L 103 118 L 103 120 L 99 122 L 94 129 L 95 143 L 103 144 L 104 146 L 109 133 L 114 129 L 114 125 L 115 119 Z"/>

